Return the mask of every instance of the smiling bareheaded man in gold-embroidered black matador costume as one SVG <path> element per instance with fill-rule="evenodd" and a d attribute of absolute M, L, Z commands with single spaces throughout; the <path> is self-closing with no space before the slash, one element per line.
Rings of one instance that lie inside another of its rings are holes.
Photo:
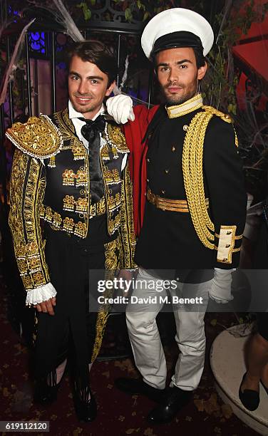
<path fill-rule="evenodd" d="M 116 69 L 103 43 L 76 43 L 68 108 L 6 134 L 16 145 L 9 224 L 26 304 L 37 309 L 36 400 L 56 399 L 71 341 L 76 412 L 86 421 L 96 417 L 89 370 L 108 317 L 106 306 L 90 313 L 88 271 L 130 269 L 135 249 L 128 147 L 103 115 Z"/>

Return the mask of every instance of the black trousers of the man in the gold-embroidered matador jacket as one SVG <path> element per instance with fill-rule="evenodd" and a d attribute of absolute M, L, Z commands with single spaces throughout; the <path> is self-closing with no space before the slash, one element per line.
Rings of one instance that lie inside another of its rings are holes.
<path fill-rule="evenodd" d="M 88 306 L 88 276 L 90 269 L 104 269 L 104 244 L 95 246 L 92 252 L 88 241 L 69 237 L 65 232 L 50 230 L 46 238 L 46 262 L 57 295 L 54 316 L 37 313 L 36 378 L 46 377 L 63 362 L 71 341 L 77 377 L 86 386 L 98 315 L 91 313 Z"/>

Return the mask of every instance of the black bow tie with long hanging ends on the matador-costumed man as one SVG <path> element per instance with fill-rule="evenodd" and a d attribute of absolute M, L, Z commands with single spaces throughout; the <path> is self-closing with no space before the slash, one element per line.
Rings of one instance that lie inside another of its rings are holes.
<path fill-rule="evenodd" d="M 105 118 L 98 115 L 96 120 L 86 120 L 86 124 L 81 128 L 81 134 L 88 141 L 89 153 L 89 177 L 91 189 L 91 204 L 98 202 L 104 194 L 103 178 L 100 170 L 100 133 L 105 129 Z"/>

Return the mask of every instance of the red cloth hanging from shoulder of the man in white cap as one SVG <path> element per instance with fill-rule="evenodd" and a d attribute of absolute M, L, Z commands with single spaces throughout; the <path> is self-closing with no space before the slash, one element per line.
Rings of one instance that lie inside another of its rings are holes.
<path fill-rule="evenodd" d="M 135 121 L 124 125 L 125 140 L 130 150 L 130 177 L 133 182 L 133 216 L 135 234 L 140 234 L 146 200 L 146 153 L 147 141 L 142 143 L 150 121 L 153 119 L 159 105 L 148 109 L 143 105 L 135 106 Z"/>

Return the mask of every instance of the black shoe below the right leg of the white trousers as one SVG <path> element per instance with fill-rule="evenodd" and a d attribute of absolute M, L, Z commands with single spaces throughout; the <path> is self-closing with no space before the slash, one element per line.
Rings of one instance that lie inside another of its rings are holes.
<path fill-rule="evenodd" d="M 151 424 L 166 424 L 172 421 L 192 398 L 192 391 L 182 390 L 180 388 L 168 388 L 165 398 L 157 408 L 151 410 L 148 415 L 148 421 Z"/>

